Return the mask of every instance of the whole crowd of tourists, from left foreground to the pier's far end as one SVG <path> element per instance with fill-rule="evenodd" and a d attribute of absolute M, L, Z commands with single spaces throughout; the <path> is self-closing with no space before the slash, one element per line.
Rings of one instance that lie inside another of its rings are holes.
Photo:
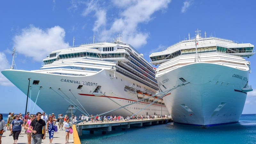
<path fill-rule="evenodd" d="M 165 118 L 166 115 L 137 115 L 137 116 L 127 116 L 124 118 L 121 115 L 104 115 L 104 116 L 93 116 L 90 117 L 80 115 L 78 120 L 83 120 L 84 122 L 91 123 L 109 123 L 109 122 L 119 122 L 124 120 L 149 120 L 154 118 Z M 77 122 L 76 115 L 72 115 L 72 121 Z M 0 114 L 0 144 L 2 144 L 1 138 L 4 132 L 10 131 L 9 136 L 13 137 L 13 144 L 17 144 L 20 132 L 22 131 L 22 127 L 25 130 L 24 132 L 28 137 L 28 144 L 40 144 L 42 139 L 45 139 L 46 132 L 49 134 L 50 143 L 52 143 L 54 132 L 58 130 L 55 125 L 58 122 L 59 130 L 63 130 L 63 126 L 66 134 L 66 141 L 68 143 L 69 133 L 72 131 L 71 124 L 69 123 L 70 119 L 68 115 L 63 116 L 63 114 L 59 114 L 55 116 L 54 113 L 49 116 L 45 114 L 45 112 L 38 112 L 35 114 L 27 114 L 23 117 L 21 113 L 18 115 L 14 115 L 14 113 L 9 113 L 7 117 L 7 124 L 5 124 L 3 120 L 3 115 Z M 45 127 L 46 126 L 46 127 Z M 71 130 L 70 130 L 71 129 Z"/>

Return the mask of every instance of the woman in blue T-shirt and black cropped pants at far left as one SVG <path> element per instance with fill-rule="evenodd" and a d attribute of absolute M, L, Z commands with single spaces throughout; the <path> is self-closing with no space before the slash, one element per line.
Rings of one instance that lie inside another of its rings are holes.
<path fill-rule="evenodd" d="M 24 127 L 23 120 L 20 119 L 20 115 L 14 115 L 13 121 L 11 123 L 14 144 L 17 144 L 17 141 L 21 132 L 21 125 Z"/>

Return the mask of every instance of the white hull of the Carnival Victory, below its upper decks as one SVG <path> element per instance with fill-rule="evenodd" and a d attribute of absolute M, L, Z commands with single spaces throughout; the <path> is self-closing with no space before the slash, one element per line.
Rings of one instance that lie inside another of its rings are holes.
<path fill-rule="evenodd" d="M 184 84 L 190 83 L 163 98 L 174 122 L 214 125 L 238 122 L 247 95 L 242 89 L 248 74 L 248 70 L 200 62 L 173 69 L 156 79 L 163 91 L 181 84 L 181 77 L 187 81 Z"/>

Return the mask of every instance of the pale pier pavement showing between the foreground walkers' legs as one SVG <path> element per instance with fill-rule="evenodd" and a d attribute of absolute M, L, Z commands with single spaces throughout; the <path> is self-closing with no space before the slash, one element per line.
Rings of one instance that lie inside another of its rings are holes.
<path fill-rule="evenodd" d="M 64 126 L 63 126 L 63 130 L 59 130 L 58 122 L 56 122 L 56 125 L 58 126 L 58 132 L 54 132 L 52 144 L 65 144 L 66 133 L 65 133 Z M 27 134 L 24 133 L 24 131 L 25 130 L 22 127 L 22 131 L 20 132 L 19 139 L 17 141 L 18 144 L 27 144 L 28 143 L 28 137 L 27 137 Z M 69 134 L 68 143 L 74 143 L 74 139 L 73 139 L 74 133 Z M 4 132 L 4 134 L 2 136 L 2 144 L 12 144 L 13 143 L 13 137 L 9 136 L 9 134 L 10 134 L 10 131 Z M 80 142 L 80 140 L 79 140 L 79 142 Z M 49 134 L 47 132 L 45 135 L 45 139 L 42 140 L 42 143 L 44 143 L 44 144 L 50 143 Z"/>

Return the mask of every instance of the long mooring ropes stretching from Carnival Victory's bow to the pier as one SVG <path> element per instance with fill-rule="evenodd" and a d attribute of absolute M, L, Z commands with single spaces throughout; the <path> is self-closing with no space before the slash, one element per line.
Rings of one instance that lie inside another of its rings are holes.
<path fill-rule="evenodd" d="M 188 82 L 188 83 L 186 83 L 186 84 L 190 84 L 190 83 Z M 132 104 L 138 103 L 138 102 L 140 102 L 140 101 L 143 101 L 143 100 L 146 100 L 146 99 L 149 99 L 149 98 L 152 98 L 152 97 L 156 97 L 156 96 L 161 95 L 161 94 L 164 93 L 162 96 L 158 97 L 156 100 L 154 100 L 153 102 L 151 102 L 150 104 L 148 104 L 146 107 L 142 108 L 142 109 L 140 110 L 140 111 L 142 111 L 142 110 L 144 110 L 145 108 L 149 107 L 149 106 L 150 106 L 151 104 L 153 104 L 154 102 L 156 102 L 157 100 L 159 100 L 159 99 L 163 98 L 164 96 L 166 96 L 166 94 L 168 94 L 169 92 L 175 90 L 175 89 L 178 88 L 178 87 L 184 86 L 184 85 L 186 85 L 186 84 L 183 84 L 183 83 L 182 83 L 182 84 L 179 84 L 179 85 L 174 86 L 173 88 L 171 88 L 171 89 L 169 89 L 169 90 L 166 90 L 166 91 L 163 91 L 163 92 L 160 92 L 160 93 L 156 93 L 156 94 L 154 94 L 154 95 L 152 95 L 152 96 L 149 96 L 149 97 L 147 97 L 147 98 L 144 98 L 144 99 L 135 101 L 135 102 L 130 103 L 130 104 L 128 104 L 128 105 L 125 105 L 125 106 L 122 106 L 122 107 L 119 107 L 119 108 L 116 108 L 116 109 L 113 109 L 113 110 L 110 110 L 110 111 L 101 113 L 101 114 L 96 115 L 96 116 L 101 116 L 101 115 L 110 113 L 110 112 L 112 112 L 112 111 L 115 111 L 115 110 L 118 110 L 118 109 L 121 109 L 121 108 L 125 108 L 125 107 L 127 107 L 127 106 L 132 105 Z M 133 114 L 132 116 L 135 116 L 135 115 L 138 114 L 140 111 L 138 111 L 137 113 Z M 94 117 L 96 117 L 96 116 L 92 116 L 92 117 L 90 117 L 90 118 L 92 119 L 92 118 L 94 118 Z M 131 117 L 132 117 L 132 116 L 131 116 Z M 129 119 L 130 119 L 130 117 L 127 119 L 127 121 L 128 121 Z M 88 119 L 80 120 L 80 121 L 76 122 L 75 124 L 79 124 L 79 123 L 84 122 L 84 121 L 88 121 Z"/>

